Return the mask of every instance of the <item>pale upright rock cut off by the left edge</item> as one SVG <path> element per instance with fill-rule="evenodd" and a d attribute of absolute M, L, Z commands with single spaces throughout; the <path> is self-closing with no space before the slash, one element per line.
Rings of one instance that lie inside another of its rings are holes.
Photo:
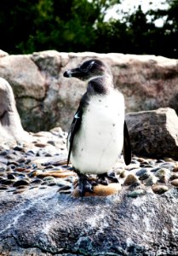
<path fill-rule="evenodd" d="M 23 130 L 17 112 L 14 93 L 9 83 L 0 78 L 0 140 L 1 143 L 18 143 L 29 139 Z"/>

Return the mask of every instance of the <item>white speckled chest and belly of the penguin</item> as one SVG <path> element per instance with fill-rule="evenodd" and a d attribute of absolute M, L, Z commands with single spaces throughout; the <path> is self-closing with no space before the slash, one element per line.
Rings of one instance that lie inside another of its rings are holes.
<path fill-rule="evenodd" d="M 72 165 L 82 173 L 109 172 L 123 148 L 124 100 L 118 90 L 93 96 L 74 138 Z"/>

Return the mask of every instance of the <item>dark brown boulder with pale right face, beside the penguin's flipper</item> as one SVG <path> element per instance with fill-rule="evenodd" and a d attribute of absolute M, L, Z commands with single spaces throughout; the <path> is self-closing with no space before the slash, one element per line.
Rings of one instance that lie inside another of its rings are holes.
<path fill-rule="evenodd" d="M 178 116 L 174 109 L 128 113 L 126 122 L 134 153 L 178 159 Z"/>

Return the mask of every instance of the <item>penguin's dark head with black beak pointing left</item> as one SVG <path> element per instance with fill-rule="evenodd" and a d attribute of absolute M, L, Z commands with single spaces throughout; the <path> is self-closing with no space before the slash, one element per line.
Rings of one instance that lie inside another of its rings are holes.
<path fill-rule="evenodd" d="M 106 73 L 112 76 L 112 73 L 110 69 L 106 67 L 106 64 L 104 64 L 102 61 L 92 59 L 89 61 L 84 61 L 83 64 L 77 68 L 66 70 L 64 77 L 77 78 L 85 81 L 106 75 Z"/>

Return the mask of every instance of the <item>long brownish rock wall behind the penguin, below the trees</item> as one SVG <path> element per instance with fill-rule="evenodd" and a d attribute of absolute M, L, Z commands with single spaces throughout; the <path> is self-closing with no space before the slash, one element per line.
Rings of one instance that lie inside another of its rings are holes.
<path fill-rule="evenodd" d="M 17 108 L 26 131 L 67 131 L 86 85 L 65 79 L 67 68 L 89 58 L 100 58 L 112 68 L 114 83 L 125 97 L 126 112 L 171 107 L 178 112 L 177 60 L 154 55 L 59 53 L 32 55 L 0 52 L 0 76 L 14 90 Z"/>

